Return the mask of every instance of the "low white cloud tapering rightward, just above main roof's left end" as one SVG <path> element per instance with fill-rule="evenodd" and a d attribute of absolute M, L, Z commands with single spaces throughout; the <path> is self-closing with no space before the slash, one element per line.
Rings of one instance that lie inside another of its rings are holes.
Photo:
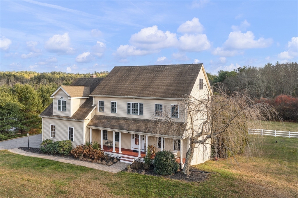
<path fill-rule="evenodd" d="M 157 51 L 140 50 L 131 45 L 120 45 L 119 48 L 117 48 L 116 53 L 113 53 L 113 55 L 119 56 L 120 58 L 126 58 L 128 56 L 142 56 L 146 54 L 152 54 L 154 52 Z"/>

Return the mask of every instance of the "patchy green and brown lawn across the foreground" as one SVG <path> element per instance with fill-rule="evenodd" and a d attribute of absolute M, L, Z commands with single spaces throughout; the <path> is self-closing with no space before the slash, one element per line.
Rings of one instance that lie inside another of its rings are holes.
<path fill-rule="evenodd" d="M 275 143 L 277 140 L 277 143 Z M 204 182 L 103 172 L 0 151 L 0 197 L 298 197 L 298 139 L 264 137 L 254 158 L 196 165 Z"/>

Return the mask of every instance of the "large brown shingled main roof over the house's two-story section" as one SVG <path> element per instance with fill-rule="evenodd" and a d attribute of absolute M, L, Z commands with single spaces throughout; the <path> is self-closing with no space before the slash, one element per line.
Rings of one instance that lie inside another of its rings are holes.
<path fill-rule="evenodd" d="M 181 98 L 190 95 L 202 65 L 114 67 L 91 95 Z"/>

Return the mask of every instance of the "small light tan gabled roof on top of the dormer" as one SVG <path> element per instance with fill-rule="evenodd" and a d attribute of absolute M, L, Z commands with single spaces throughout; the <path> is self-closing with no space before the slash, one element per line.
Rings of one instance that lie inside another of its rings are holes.
<path fill-rule="evenodd" d="M 51 96 L 54 96 L 60 89 L 62 89 L 71 98 L 89 97 L 89 94 L 90 94 L 89 86 L 61 85 Z"/>

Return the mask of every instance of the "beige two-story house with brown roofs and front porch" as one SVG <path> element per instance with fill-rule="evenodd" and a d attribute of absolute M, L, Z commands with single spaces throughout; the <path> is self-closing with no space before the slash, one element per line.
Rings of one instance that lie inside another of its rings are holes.
<path fill-rule="evenodd" d="M 42 139 L 97 141 L 120 161 L 145 156 L 148 145 L 177 153 L 183 166 L 189 148 L 185 95 L 212 94 L 203 64 L 114 67 L 105 78 L 77 78 L 60 86 L 41 114 Z M 164 116 L 166 115 L 166 116 Z M 162 125 L 163 117 L 175 121 Z M 203 157 L 204 156 L 204 157 Z M 196 147 L 191 165 L 203 163 L 209 149 Z"/>

